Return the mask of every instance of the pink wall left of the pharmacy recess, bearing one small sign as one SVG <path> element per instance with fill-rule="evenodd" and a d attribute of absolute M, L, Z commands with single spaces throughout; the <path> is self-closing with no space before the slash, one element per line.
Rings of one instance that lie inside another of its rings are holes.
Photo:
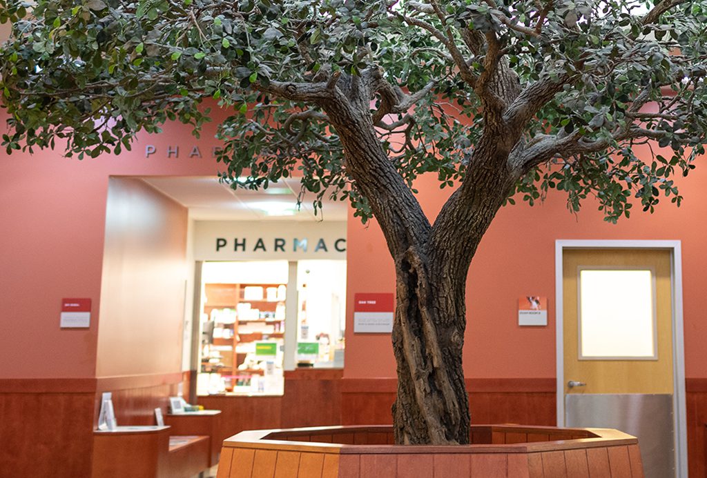
<path fill-rule="evenodd" d="M 5 119 L 0 113 L 0 132 Z M 214 176 L 217 143 L 209 138 L 213 130 L 197 140 L 188 127 L 173 124 L 165 133 L 141 136 L 119 157 L 78 161 L 62 157 L 59 146 L 35 155 L 0 150 L 0 378 L 95 376 L 109 177 Z M 156 153 L 146 158 L 148 144 Z M 196 144 L 203 157 L 189 158 Z M 174 145 L 180 157 L 167 157 Z M 59 328 L 64 297 L 92 299 L 88 330 Z M 171 346 L 179 354 L 181 339 Z M 120 367 L 130 359 L 113 360 Z"/>

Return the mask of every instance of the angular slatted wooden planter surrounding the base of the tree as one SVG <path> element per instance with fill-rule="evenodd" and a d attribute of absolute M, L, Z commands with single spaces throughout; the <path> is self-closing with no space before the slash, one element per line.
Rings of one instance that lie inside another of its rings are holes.
<path fill-rule="evenodd" d="M 393 445 L 392 426 L 243 431 L 217 478 L 643 478 L 638 440 L 612 429 L 472 426 L 464 446 Z"/>

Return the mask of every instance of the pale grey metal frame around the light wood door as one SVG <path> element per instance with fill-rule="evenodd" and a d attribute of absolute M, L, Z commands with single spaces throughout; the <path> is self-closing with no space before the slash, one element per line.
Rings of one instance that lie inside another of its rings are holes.
<path fill-rule="evenodd" d="M 675 470 L 687 477 L 687 426 L 685 400 L 684 328 L 682 317 L 681 241 L 557 239 L 555 241 L 555 348 L 557 425 L 565 426 L 565 376 L 563 335 L 563 253 L 568 249 L 658 249 L 670 251 L 672 289 L 673 421 L 675 431 Z"/>

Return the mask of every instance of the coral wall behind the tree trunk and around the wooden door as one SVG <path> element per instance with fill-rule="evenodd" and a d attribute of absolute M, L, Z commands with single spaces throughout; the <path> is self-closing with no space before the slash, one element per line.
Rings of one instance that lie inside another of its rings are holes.
<path fill-rule="evenodd" d="M 680 179 L 682 207 L 662 201 L 653 215 L 636 207 L 631 220 L 610 225 L 592 201 L 579 215 L 566 210 L 563 193 L 543 204 L 501 209 L 479 245 L 467 281 L 467 378 L 555 376 L 555 240 L 679 239 L 683 253 L 685 360 L 688 378 L 707 377 L 707 164 L 699 160 Z M 419 179 L 419 198 L 428 217 L 436 217 L 450 193 L 434 177 Z M 353 333 L 356 292 L 395 292 L 392 259 L 378 225 L 349 217 L 346 316 L 346 378 L 393 377 L 390 335 Z M 547 296 L 549 325 L 519 327 L 517 301 L 525 295 Z"/>

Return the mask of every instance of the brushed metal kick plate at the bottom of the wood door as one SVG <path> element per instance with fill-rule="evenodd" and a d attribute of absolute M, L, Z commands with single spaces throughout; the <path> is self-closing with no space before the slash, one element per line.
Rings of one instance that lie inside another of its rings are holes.
<path fill-rule="evenodd" d="M 638 438 L 645 478 L 675 477 L 672 395 L 565 395 L 566 426 L 613 428 Z"/>

